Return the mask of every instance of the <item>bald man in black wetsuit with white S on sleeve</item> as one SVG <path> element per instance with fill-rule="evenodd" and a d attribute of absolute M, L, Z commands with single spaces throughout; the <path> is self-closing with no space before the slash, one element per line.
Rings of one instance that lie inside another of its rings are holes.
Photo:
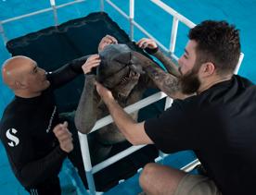
<path fill-rule="evenodd" d="M 115 41 L 106 36 L 98 48 Z M 83 70 L 86 60 L 83 56 L 51 73 L 26 56 L 12 57 L 2 67 L 3 80 L 15 97 L 1 119 L 0 138 L 15 176 L 31 194 L 60 194 L 58 173 L 67 155 L 86 183 L 80 146 L 72 141 L 77 134 L 72 139 L 68 123 L 59 119 L 53 94 L 100 62 L 98 58 Z"/>

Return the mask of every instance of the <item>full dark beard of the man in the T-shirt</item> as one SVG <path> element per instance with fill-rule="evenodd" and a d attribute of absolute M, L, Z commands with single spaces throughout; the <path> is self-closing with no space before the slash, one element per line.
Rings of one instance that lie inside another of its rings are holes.
<path fill-rule="evenodd" d="M 198 69 L 197 65 L 195 65 L 192 70 L 180 78 L 180 85 L 183 93 L 193 94 L 198 91 L 201 84 L 198 79 Z"/>

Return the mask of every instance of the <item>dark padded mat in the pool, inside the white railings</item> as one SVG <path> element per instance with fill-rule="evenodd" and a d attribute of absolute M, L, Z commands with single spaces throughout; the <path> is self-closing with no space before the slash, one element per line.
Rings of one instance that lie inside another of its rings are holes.
<path fill-rule="evenodd" d="M 51 71 L 75 58 L 96 54 L 97 44 L 106 34 L 116 37 L 119 43 L 126 43 L 135 51 L 143 53 L 129 40 L 128 35 L 117 23 L 103 12 L 92 13 L 84 18 L 65 22 L 58 27 L 49 27 L 13 39 L 6 44 L 6 48 L 11 55 L 29 56 L 38 63 L 39 67 Z M 83 77 L 81 75 L 56 91 L 60 112 L 76 108 L 83 90 Z M 163 104 L 158 107 L 160 109 L 154 109 L 154 112 L 160 112 Z M 128 145 L 127 142 L 116 144 L 113 153 L 127 148 Z M 131 177 L 138 168 L 147 162 L 152 162 L 157 156 L 157 150 L 153 146 L 147 146 L 122 161 L 110 165 L 96 174 L 96 189 L 107 190 L 113 187 L 120 179 Z"/>

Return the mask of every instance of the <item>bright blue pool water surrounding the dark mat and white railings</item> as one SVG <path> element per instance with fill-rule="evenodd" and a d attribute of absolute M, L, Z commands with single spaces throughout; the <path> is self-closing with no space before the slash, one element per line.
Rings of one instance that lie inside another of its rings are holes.
<path fill-rule="evenodd" d="M 57 4 L 67 3 L 68 0 L 58 0 Z M 113 1 L 117 5 L 119 5 L 124 12 L 128 12 L 128 2 L 124 1 Z M 172 6 L 174 9 L 179 11 L 181 14 L 185 15 L 186 18 L 191 19 L 195 23 L 203 19 L 226 19 L 231 23 L 236 24 L 237 28 L 241 30 L 241 42 L 242 42 L 242 51 L 245 54 L 245 58 L 240 68 L 239 74 L 256 81 L 256 67 L 252 66 L 252 62 L 255 61 L 256 58 L 256 38 L 254 36 L 256 32 L 256 28 L 253 24 L 255 24 L 255 13 L 256 10 L 256 2 L 255 1 L 211 1 L 204 0 L 201 1 L 193 1 L 193 4 L 188 3 L 185 0 L 174 0 L 174 1 L 163 1 L 164 3 Z M 0 2 L 0 20 L 6 18 L 12 18 L 15 16 L 19 16 L 28 12 L 32 12 L 38 9 L 46 8 L 49 6 L 47 1 L 40 2 L 40 4 L 34 4 L 32 0 L 19 1 L 19 0 L 6 0 Z M 161 43 L 165 46 L 169 46 L 169 38 L 171 31 L 171 22 L 169 22 L 169 15 L 164 11 L 161 11 L 159 8 L 154 6 L 150 1 L 146 0 L 137 0 L 135 1 L 135 20 L 137 19 L 139 23 L 141 23 L 150 33 L 154 36 L 158 37 Z M 59 23 L 62 23 L 71 18 L 79 18 L 92 11 L 96 11 L 99 8 L 98 1 L 88 0 L 82 4 L 70 6 L 67 8 L 63 8 L 59 11 Z M 106 6 L 106 11 L 109 12 L 109 15 L 113 20 L 119 23 L 119 25 L 124 30 L 129 30 L 126 21 L 120 17 L 118 13 L 115 11 L 110 11 L 110 8 Z M 253 17 L 254 16 L 254 17 Z M 21 21 L 21 22 L 20 22 Z M 51 13 L 42 14 L 32 18 L 22 19 L 20 21 L 8 23 L 5 26 L 6 34 L 8 38 L 12 39 L 15 37 L 19 37 L 25 33 L 40 30 L 48 26 L 54 25 L 53 16 Z M 186 43 L 186 28 L 181 26 L 181 34 L 178 37 L 177 43 L 177 54 L 180 55 L 183 52 L 183 47 Z M 143 35 L 135 30 L 135 39 L 139 39 Z M 0 63 L 8 57 L 6 52 L 4 43 L 1 40 L 0 43 Z M 0 81 L 0 115 L 2 116 L 2 112 L 6 104 L 9 102 L 12 97 L 12 93 L 3 86 L 2 79 Z M 1 156 L 6 156 L 5 152 L 3 152 L 3 147 L 0 147 Z M 1 166 L 3 165 L 3 166 Z M 2 172 L 2 170 L 7 169 L 4 165 L 6 165 L 6 160 L 0 164 L 1 167 L 1 183 L 3 188 L 0 189 L 1 192 L 6 188 L 6 182 L 8 182 L 8 178 L 12 181 L 12 177 L 8 175 L 8 172 Z M 2 169 L 3 167 L 3 169 Z M 4 175 L 2 174 L 4 173 Z M 5 175 L 6 173 L 6 175 Z M 5 178 L 5 180 L 3 179 Z M 9 185 L 9 184 L 8 184 Z M 8 189 L 17 189 L 15 192 L 19 194 L 22 193 L 22 189 L 20 187 L 12 187 L 13 185 L 7 185 Z M 21 192 L 20 192 L 21 191 Z M 10 192 L 11 193 L 11 192 Z"/>

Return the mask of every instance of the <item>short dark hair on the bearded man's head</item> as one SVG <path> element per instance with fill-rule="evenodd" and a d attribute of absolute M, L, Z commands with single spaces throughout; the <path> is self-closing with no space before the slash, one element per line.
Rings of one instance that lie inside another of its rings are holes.
<path fill-rule="evenodd" d="M 241 50 L 235 26 L 225 21 L 206 20 L 189 30 L 188 38 L 198 43 L 199 62 L 213 63 L 220 75 L 234 72 Z"/>

